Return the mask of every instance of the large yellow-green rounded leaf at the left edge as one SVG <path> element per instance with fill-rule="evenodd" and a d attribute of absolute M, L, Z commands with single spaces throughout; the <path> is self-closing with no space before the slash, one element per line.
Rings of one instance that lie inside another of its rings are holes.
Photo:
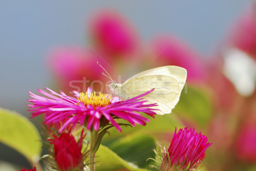
<path fill-rule="evenodd" d="M 0 108 L 0 142 L 14 148 L 29 162 L 38 162 L 42 139 L 35 125 L 19 113 Z"/>

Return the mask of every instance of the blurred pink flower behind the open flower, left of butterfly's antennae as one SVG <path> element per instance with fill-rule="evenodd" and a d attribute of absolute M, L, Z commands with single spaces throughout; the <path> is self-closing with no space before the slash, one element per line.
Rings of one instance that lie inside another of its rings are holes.
<path fill-rule="evenodd" d="M 95 52 L 81 47 L 62 47 L 49 54 L 47 63 L 61 89 L 86 91 L 86 87 L 91 86 L 95 91 L 102 91 L 109 79 L 102 75 L 102 68 L 96 62 L 99 61 L 106 69 L 110 63 L 108 61 L 106 64 L 101 58 Z"/>

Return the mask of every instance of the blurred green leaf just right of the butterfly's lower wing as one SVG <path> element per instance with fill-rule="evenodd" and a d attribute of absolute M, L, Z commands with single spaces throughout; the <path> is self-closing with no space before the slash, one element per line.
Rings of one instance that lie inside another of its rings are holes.
<path fill-rule="evenodd" d="M 180 101 L 173 112 L 184 119 L 194 121 L 204 128 L 208 125 L 212 115 L 212 106 L 208 92 L 202 87 L 200 89 L 187 87 L 187 93 L 181 94 Z"/>

